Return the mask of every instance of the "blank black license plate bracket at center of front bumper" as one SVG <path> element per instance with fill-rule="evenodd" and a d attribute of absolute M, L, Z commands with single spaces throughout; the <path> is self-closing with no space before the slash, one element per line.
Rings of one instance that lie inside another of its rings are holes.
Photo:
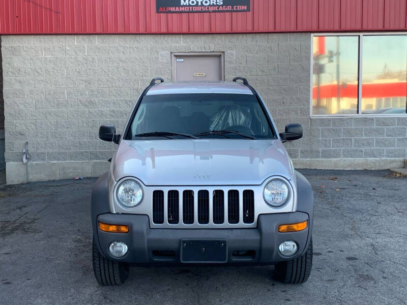
<path fill-rule="evenodd" d="M 227 241 L 224 239 L 182 239 L 182 263 L 225 263 Z"/>

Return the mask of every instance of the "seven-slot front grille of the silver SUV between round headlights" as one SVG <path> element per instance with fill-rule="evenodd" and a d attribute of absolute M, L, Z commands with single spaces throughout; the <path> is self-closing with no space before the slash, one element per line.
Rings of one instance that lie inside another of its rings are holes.
<path fill-rule="evenodd" d="M 238 190 L 214 190 L 211 193 L 208 190 L 169 190 L 166 202 L 164 191 L 156 190 L 152 199 L 154 224 L 163 224 L 164 221 L 171 225 L 180 222 L 184 225 L 206 225 L 210 221 L 216 225 L 254 222 L 252 190 L 244 190 L 243 194 Z"/>

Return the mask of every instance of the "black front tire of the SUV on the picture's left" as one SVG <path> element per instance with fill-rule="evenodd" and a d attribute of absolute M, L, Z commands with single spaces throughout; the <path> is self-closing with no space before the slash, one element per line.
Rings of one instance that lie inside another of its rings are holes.
<path fill-rule="evenodd" d="M 92 260 L 95 278 L 100 285 L 121 285 L 129 275 L 129 265 L 104 258 L 100 255 L 95 241 L 93 241 Z"/>

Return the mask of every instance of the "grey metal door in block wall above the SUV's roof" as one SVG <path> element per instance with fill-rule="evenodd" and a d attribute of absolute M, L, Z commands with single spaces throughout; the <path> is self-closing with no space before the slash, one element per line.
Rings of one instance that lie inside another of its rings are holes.
<path fill-rule="evenodd" d="M 223 53 L 172 53 L 172 81 L 224 80 Z"/>

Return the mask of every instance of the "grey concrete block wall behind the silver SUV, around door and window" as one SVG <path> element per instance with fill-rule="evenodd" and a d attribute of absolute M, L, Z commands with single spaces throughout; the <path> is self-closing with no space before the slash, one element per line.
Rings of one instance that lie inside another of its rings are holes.
<path fill-rule="evenodd" d="M 287 123 L 303 126 L 304 138 L 286 143 L 297 166 L 401 165 L 405 117 L 310 119 L 310 39 L 309 33 L 2 36 L 8 168 L 20 166 L 25 141 L 38 168 L 64 164 L 36 179 L 105 162 L 115 146 L 98 139 L 99 126 L 123 130 L 151 78 L 170 80 L 171 52 L 192 51 L 224 52 L 225 79 L 247 77 L 280 131 Z M 91 168 L 82 174 L 99 173 Z M 20 175 L 8 171 L 8 182 L 23 182 Z"/>

